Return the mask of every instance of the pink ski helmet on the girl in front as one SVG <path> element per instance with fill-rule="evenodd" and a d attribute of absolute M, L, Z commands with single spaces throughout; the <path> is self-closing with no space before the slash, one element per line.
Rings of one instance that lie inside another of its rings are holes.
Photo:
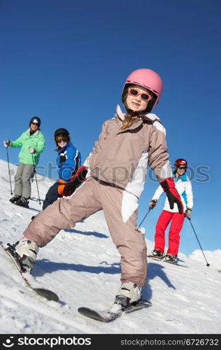
<path fill-rule="evenodd" d="M 162 79 L 152 71 L 151 69 L 137 69 L 136 71 L 132 71 L 130 76 L 125 80 L 125 84 L 123 86 L 122 92 L 122 102 L 125 103 L 125 94 L 127 92 L 127 87 L 131 84 L 140 85 L 142 87 L 146 87 L 146 89 L 150 90 L 153 93 L 153 99 L 148 104 L 145 112 L 151 112 L 152 109 L 158 104 L 160 101 L 160 97 L 162 94 Z"/>

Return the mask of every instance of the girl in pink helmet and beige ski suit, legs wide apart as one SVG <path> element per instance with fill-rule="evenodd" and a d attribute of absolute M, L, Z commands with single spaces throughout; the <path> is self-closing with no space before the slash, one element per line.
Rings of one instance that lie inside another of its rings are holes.
<path fill-rule="evenodd" d="M 102 125 L 89 156 L 86 181 L 70 200 L 61 198 L 40 213 L 15 245 L 27 269 L 33 267 L 38 247 L 52 241 L 60 230 L 73 228 L 75 223 L 103 210 L 121 255 L 122 285 L 114 305 L 122 307 L 141 298 L 146 284 L 146 243 L 142 232 L 137 231 L 136 221 L 147 165 L 167 193 L 170 206 L 176 202 L 183 212 L 169 165 L 165 128 L 160 118 L 150 113 L 161 92 L 162 80 L 151 69 L 137 69 L 128 76 L 122 93 L 127 113 L 117 106 L 114 118 Z"/>

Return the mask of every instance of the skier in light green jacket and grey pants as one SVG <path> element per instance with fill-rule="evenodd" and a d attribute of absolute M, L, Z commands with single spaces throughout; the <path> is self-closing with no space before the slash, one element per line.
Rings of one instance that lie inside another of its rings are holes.
<path fill-rule="evenodd" d="M 29 207 L 31 197 L 31 176 L 38 165 L 40 153 L 45 149 L 45 137 L 40 131 L 40 118 L 33 117 L 29 129 L 15 141 L 3 141 L 5 147 L 22 147 L 19 153 L 19 165 L 15 174 L 15 195 L 10 202 L 22 207 Z"/>

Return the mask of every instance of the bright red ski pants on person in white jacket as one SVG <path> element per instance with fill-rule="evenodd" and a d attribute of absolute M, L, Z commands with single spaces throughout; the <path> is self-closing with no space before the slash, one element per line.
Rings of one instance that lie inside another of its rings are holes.
<path fill-rule="evenodd" d="M 165 230 L 172 221 L 169 228 L 169 245 L 167 254 L 177 255 L 178 246 L 180 243 L 180 232 L 183 227 L 184 214 L 172 213 L 171 211 L 163 210 L 158 218 L 155 227 L 155 249 L 161 253 L 165 250 Z"/>

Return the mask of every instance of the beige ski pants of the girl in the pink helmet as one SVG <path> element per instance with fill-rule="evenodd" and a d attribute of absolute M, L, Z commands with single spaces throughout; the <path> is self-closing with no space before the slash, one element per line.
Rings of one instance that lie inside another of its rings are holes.
<path fill-rule="evenodd" d="M 136 230 L 137 210 L 123 222 L 122 199 L 122 189 L 90 177 L 70 200 L 61 198 L 34 218 L 24 237 L 43 247 L 60 230 L 74 228 L 75 223 L 103 209 L 112 240 L 121 255 L 121 282 L 131 281 L 142 287 L 146 284 L 146 243 L 142 232 Z"/>

